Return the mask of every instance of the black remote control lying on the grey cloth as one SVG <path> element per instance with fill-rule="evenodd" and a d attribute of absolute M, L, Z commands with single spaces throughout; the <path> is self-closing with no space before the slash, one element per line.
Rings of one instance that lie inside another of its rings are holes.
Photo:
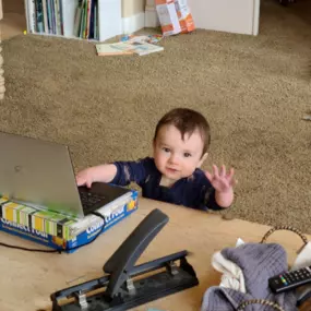
<path fill-rule="evenodd" d="M 268 279 L 268 286 L 275 294 L 292 290 L 308 283 L 311 283 L 311 266 L 276 275 Z"/>

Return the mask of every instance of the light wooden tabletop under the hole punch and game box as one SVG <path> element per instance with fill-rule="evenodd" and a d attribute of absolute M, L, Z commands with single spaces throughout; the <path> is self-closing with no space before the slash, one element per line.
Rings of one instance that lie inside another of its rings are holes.
<path fill-rule="evenodd" d="M 51 292 L 101 276 L 106 260 L 154 208 L 162 210 L 170 220 L 146 249 L 139 263 L 189 250 L 193 253 L 189 256 L 189 262 L 198 274 L 200 285 L 134 309 L 139 311 L 147 308 L 170 311 L 200 310 L 206 288 L 219 284 L 220 274 L 211 265 L 212 254 L 225 247 L 235 246 L 238 237 L 244 241 L 259 242 L 270 229 L 264 225 L 239 219 L 224 220 L 219 215 L 141 199 L 139 211 L 75 253 L 32 253 L 1 247 L 0 310 L 49 310 Z M 286 248 L 289 263 L 302 244 L 298 236 L 288 231 L 277 231 L 268 240 L 277 241 Z M 0 232 L 0 241 L 39 248 L 38 244 L 4 232 Z M 80 279 L 74 282 L 79 277 Z"/>

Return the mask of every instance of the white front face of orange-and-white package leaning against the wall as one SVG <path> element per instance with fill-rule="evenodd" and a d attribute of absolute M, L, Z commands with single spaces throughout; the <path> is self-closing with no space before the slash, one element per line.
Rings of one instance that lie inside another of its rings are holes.
<path fill-rule="evenodd" d="M 174 0 L 155 0 L 155 4 L 163 35 L 171 36 L 181 33 Z"/>

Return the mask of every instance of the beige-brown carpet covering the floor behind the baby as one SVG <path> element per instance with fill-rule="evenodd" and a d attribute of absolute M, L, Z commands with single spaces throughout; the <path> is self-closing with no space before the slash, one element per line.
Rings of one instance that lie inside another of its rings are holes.
<path fill-rule="evenodd" d="M 0 130 L 69 144 L 80 169 L 151 154 L 163 113 L 198 109 L 213 130 L 205 168 L 237 170 L 227 214 L 311 232 L 311 122 L 301 119 L 311 10 L 267 1 L 261 13 L 259 37 L 198 31 L 145 57 L 97 57 L 92 44 L 31 35 L 4 41 Z"/>

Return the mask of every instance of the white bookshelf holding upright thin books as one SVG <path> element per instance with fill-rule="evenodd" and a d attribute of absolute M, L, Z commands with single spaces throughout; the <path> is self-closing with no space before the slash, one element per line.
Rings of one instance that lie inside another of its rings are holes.
<path fill-rule="evenodd" d="M 24 0 L 27 32 L 104 41 L 122 34 L 121 0 Z"/>

